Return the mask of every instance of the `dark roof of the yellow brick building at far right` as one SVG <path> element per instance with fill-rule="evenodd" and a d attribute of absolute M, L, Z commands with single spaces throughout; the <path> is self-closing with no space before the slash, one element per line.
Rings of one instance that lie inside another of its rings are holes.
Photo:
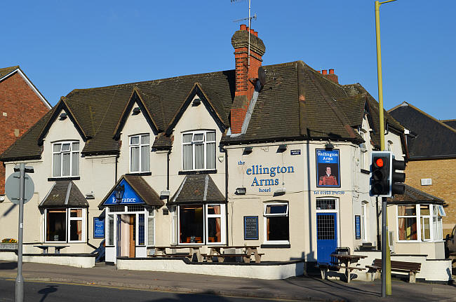
<path fill-rule="evenodd" d="M 389 110 L 391 116 L 410 130 L 410 159 L 448 158 L 456 156 L 456 130 L 413 105 L 403 102 Z"/>

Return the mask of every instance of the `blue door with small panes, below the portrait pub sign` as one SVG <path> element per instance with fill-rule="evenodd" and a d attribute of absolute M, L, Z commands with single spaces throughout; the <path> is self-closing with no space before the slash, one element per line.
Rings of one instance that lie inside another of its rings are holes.
<path fill-rule="evenodd" d="M 330 263 L 337 247 L 337 214 L 316 213 L 316 258 L 318 263 Z"/>

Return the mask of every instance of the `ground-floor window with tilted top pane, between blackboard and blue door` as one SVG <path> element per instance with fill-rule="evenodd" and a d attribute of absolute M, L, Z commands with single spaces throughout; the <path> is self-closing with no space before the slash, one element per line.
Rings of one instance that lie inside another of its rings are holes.
<path fill-rule="evenodd" d="M 288 203 L 265 204 L 264 217 L 265 242 L 288 244 L 290 242 Z"/>

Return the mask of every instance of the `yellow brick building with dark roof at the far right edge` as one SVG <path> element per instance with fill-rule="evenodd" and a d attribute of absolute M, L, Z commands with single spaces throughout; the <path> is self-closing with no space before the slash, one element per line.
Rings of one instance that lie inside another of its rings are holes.
<path fill-rule="evenodd" d="M 445 237 L 456 224 L 455 120 L 438 121 L 407 102 L 389 113 L 408 130 L 410 161 L 405 183 L 445 200 Z"/>

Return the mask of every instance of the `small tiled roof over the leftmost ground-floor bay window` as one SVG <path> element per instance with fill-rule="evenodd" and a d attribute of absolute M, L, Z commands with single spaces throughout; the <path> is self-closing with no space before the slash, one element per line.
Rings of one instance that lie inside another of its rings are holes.
<path fill-rule="evenodd" d="M 39 207 L 88 207 L 88 203 L 73 181 L 55 181 Z"/>

